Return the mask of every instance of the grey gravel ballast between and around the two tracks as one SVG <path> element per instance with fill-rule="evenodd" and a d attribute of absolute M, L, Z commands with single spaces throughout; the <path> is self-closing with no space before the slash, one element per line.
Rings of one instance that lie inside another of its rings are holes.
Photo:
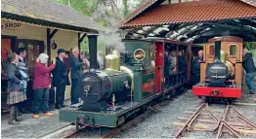
<path fill-rule="evenodd" d="M 256 94 L 255 94 L 256 95 Z M 176 98 L 173 98 L 169 103 L 156 110 L 156 113 L 149 116 L 144 122 L 132 126 L 130 129 L 119 133 L 117 138 L 170 138 L 174 137 L 178 132 L 178 126 L 173 122 L 180 122 L 178 118 L 184 117 L 186 111 L 192 111 L 190 108 L 198 108 L 201 100 L 192 95 L 189 90 Z M 211 108 L 225 110 L 224 104 L 212 104 Z M 243 116 L 246 116 L 252 122 L 256 122 L 256 106 L 241 106 L 235 105 Z M 195 131 L 187 132 L 184 137 L 190 138 L 215 138 L 216 134 L 212 132 Z M 256 137 L 256 136 L 255 136 Z"/>

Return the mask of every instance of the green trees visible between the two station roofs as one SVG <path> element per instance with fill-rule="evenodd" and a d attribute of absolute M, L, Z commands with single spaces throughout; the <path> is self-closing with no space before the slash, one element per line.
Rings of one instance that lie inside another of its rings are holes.
<path fill-rule="evenodd" d="M 132 11 L 141 7 L 148 0 L 51 0 L 66 6 L 70 6 L 77 12 L 92 17 L 111 30 L 108 34 L 99 37 L 98 50 L 104 52 L 105 47 L 111 44 L 121 45 L 119 23 Z M 118 6 L 118 2 L 122 6 Z M 81 44 L 81 51 L 88 52 L 87 38 Z"/>

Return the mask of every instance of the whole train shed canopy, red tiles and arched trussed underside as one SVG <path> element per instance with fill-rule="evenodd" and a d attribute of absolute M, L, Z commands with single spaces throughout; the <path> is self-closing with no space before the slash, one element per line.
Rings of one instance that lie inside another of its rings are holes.
<path fill-rule="evenodd" d="M 126 17 L 120 25 L 128 32 L 125 37 L 205 43 L 216 36 L 237 36 L 244 41 L 256 41 L 254 0 L 170 1 L 149 0 Z"/>

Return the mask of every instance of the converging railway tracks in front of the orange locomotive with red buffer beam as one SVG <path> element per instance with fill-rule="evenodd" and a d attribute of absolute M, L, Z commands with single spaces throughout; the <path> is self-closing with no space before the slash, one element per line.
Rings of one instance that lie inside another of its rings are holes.
<path fill-rule="evenodd" d="M 192 116 L 179 118 L 184 122 L 174 123 L 182 126 L 175 138 L 181 138 L 188 131 L 212 131 L 216 133 L 216 138 L 221 138 L 224 133 L 235 138 L 256 137 L 256 124 L 242 116 L 233 105 L 227 105 L 223 112 L 220 109 L 211 109 L 207 103 L 203 103 L 195 112 L 187 113 Z"/>

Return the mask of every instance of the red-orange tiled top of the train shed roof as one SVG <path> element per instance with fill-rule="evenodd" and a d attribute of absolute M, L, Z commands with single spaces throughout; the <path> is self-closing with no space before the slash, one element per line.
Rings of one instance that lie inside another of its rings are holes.
<path fill-rule="evenodd" d="M 120 27 L 256 17 L 255 2 L 251 0 L 204 0 L 166 5 L 158 3 L 154 9 L 149 9 L 156 2 L 149 1 L 127 17 Z M 147 9 L 149 11 L 146 12 Z"/>

